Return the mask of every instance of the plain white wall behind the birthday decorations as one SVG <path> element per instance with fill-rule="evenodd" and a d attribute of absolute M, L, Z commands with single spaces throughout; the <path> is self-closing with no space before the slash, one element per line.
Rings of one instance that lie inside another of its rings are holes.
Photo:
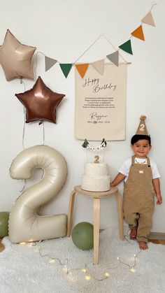
<path fill-rule="evenodd" d="M 150 10 L 149 0 L 6 0 L 0 10 L 0 43 L 6 29 L 23 44 L 36 46 L 48 57 L 62 63 L 76 61 L 91 43 L 103 34 L 117 48 L 129 39 L 131 31 L 140 24 L 141 19 Z M 150 157 L 157 162 L 162 174 L 162 195 L 165 194 L 164 166 L 164 0 L 157 0 L 152 10 L 156 27 L 143 25 L 145 42 L 131 38 L 134 55 L 120 50 L 120 54 L 131 62 L 127 75 L 127 120 L 126 140 L 108 142 L 105 161 L 110 166 L 114 178 L 117 168 L 125 157 L 131 155 L 130 138 L 135 134 L 141 114 L 148 117 L 148 131 L 152 137 Z M 110 44 L 101 38 L 79 61 L 94 62 L 114 52 Z M 36 54 L 33 64 L 36 62 Z M 45 122 L 45 144 L 59 150 L 68 165 L 66 184 L 55 200 L 42 210 L 44 213 L 67 213 L 69 194 L 75 185 L 79 185 L 85 162 L 85 150 L 82 141 L 74 136 L 74 69 L 66 79 L 55 65 L 45 72 L 44 57 L 38 55 L 36 76 L 55 92 L 66 94 L 57 108 L 57 124 Z M 33 80 L 25 80 L 26 90 Z M 23 92 L 18 79 L 6 81 L 0 66 L 0 136 L 1 136 L 1 195 L 0 210 L 10 210 L 14 200 L 20 195 L 24 183 L 12 180 L 9 167 L 13 158 L 22 151 L 22 128 L 24 124 L 23 107 L 15 93 Z M 101 138 L 102 139 L 102 138 Z M 24 144 L 28 148 L 43 143 L 42 127 L 38 123 L 26 124 Z M 100 142 L 90 142 L 99 145 Z M 41 174 L 40 174 L 41 175 Z M 35 175 L 27 186 L 38 180 Z M 119 186 L 122 191 L 122 184 Z M 46 194 L 45 194 L 46 196 Z M 81 221 L 92 222 L 92 200 L 83 196 L 76 199 L 74 224 Z M 156 206 L 152 231 L 164 231 L 165 206 Z M 101 200 L 101 228 L 117 224 L 115 198 Z"/>

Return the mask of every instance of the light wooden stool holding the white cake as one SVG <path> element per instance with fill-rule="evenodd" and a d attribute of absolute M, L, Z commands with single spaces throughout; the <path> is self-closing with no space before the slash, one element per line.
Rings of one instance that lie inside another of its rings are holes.
<path fill-rule="evenodd" d="M 73 206 L 76 192 L 80 194 L 92 197 L 94 199 L 94 264 L 99 264 L 99 216 L 100 216 L 100 199 L 103 197 L 115 194 L 117 198 L 117 213 L 119 221 L 120 239 L 124 240 L 124 228 L 123 228 L 123 214 L 122 214 L 122 198 L 117 187 L 111 187 L 107 192 L 89 192 L 82 190 L 80 185 L 75 186 L 73 192 L 70 195 L 69 202 L 69 214 L 67 222 L 67 236 L 71 236 L 71 226 L 73 219 Z"/>

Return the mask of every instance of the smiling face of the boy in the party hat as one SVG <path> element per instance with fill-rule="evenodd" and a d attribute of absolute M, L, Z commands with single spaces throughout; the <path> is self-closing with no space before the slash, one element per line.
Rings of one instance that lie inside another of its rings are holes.
<path fill-rule="evenodd" d="M 152 147 L 146 139 L 140 139 L 136 141 L 134 145 L 131 145 L 131 148 L 134 150 L 134 155 L 136 155 L 136 157 L 143 159 L 147 157 Z"/>

